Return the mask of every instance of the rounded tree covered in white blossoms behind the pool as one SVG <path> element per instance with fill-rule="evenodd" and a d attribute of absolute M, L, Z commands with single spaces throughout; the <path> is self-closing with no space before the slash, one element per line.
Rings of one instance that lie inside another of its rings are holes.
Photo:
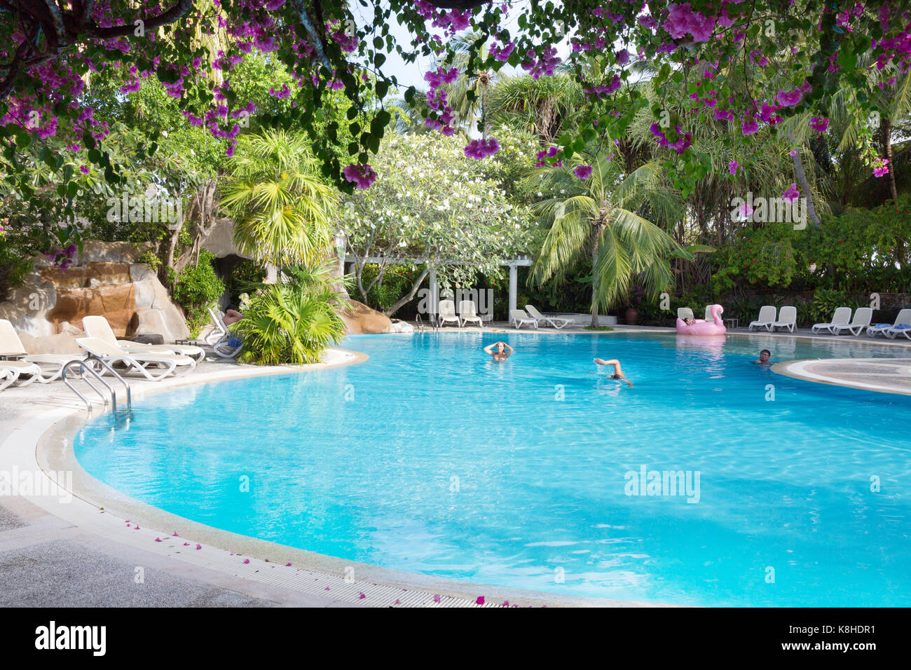
<path fill-rule="evenodd" d="M 479 273 L 498 276 L 500 263 L 530 251 L 529 211 L 509 202 L 485 173 L 490 166 L 466 158 L 463 145 L 455 138 L 394 136 L 374 161 L 374 186 L 344 202 L 343 227 L 364 301 L 390 265 L 408 259 L 421 268 L 387 315 L 415 297 L 431 270 L 444 285 L 464 287 Z M 379 259 L 378 272 L 364 283 L 370 258 Z"/>

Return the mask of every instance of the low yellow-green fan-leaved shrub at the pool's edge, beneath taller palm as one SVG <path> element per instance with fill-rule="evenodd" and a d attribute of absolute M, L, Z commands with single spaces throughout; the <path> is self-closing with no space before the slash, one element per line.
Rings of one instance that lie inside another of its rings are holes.
<path fill-rule="evenodd" d="M 339 295 L 325 268 L 282 270 L 288 281 L 262 284 L 243 318 L 230 325 L 243 340 L 241 360 L 262 366 L 318 363 L 323 350 L 344 337 Z"/>

